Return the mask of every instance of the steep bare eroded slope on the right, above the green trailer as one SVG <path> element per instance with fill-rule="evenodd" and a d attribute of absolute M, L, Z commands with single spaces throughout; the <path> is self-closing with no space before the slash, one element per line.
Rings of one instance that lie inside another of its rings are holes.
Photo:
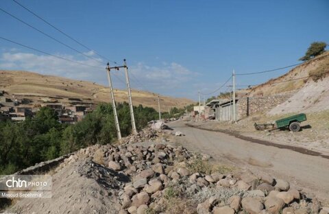
<path fill-rule="evenodd" d="M 328 75 L 329 52 L 326 51 L 276 79 L 255 86 L 245 95 L 249 97 L 291 95 L 286 102 L 271 109 L 269 115 L 328 110 Z"/>

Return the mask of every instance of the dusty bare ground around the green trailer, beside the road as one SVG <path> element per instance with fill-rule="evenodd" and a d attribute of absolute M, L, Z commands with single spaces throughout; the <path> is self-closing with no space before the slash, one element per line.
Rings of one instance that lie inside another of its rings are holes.
<path fill-rule="evenodd" d="M 258 114 L 241 119 L 236 123 L 230 121 L 189 121 L 188 125 L 206 130 L 238 134 L 260 141 L 268 141 L 280 145 L 302 147 L 310 151 L 329 155 L 329 110 L 306 114 L 307 121 L 302 122 L 300 132 L 289 130 L 257 131 L 254 123 L 272 123 L 277 119 L 290 115 L 268 116 Z"/>

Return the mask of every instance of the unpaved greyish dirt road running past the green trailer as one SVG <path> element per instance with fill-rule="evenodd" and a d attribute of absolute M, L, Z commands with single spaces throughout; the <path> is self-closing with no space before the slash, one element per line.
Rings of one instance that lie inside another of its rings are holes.
<path fill-rule="evenodd" d="M 174 122 L 171 128 L 186 136 L 178 139 L 190 150 L 210 154 L 215 160 L 275 178 L 289 180 L 292 186 L 313 193 L 329 204 L 329 160 L 269 145 L 252 143 L 228 134 L 199 130 Z"/>

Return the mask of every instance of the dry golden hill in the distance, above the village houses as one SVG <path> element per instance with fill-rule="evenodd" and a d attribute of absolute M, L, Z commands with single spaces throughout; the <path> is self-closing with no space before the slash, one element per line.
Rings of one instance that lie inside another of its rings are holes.
<path fill-rule="evenodd" d="M 71 80 L 52 75 L 40 75 L 28 71 L 1 71 L 0 89 L 7 97 L 31 99 L 38 102 L 62 104 L 97 104 L 110 102 L 110 91 L 106 86 L 82 80 Z M 127 91 L 114 89 L 116 102 L 127 102 Z M 158 97 L 147 91 L 132 90 L 134 106 L 143 104 L 158 109 Z M 193 104 L 191 99 L 161 96 L 161 110 L 182 108 Z"/>

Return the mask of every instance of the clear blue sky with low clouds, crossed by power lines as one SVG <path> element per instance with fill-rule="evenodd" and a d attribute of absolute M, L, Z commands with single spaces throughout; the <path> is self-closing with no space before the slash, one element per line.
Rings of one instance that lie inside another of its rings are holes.
<path fill-rule="evenodd" d="M 132 87 L 197 99 L 231 75 L 298 62 L 313 41 L 329 43 L 329 1 L 22 1 L 106 58 L 127 59 Z M 0 11 L 0 36 L 97 67 L 106 61 L 42 23 L 11 0 L 0 8 L 101 62 L 90 60 Z M 19 69 L 106 85 L 104 69 L 66 62 L 0 40 L 0 69 Z M 286 70 L 240 76 L 265 82 Z M 123 80 L 123 73 L 116 72 Z M 1 77 L 0 77 L 1 78 Z M 137 79 L 137 80 L 136 80 Z M 114 86 L 124 84 L 114 78 Z M 226 91 L 223 87 L 222 91 Z M 214 94 L 216 95 L 216 93 Z"/>

